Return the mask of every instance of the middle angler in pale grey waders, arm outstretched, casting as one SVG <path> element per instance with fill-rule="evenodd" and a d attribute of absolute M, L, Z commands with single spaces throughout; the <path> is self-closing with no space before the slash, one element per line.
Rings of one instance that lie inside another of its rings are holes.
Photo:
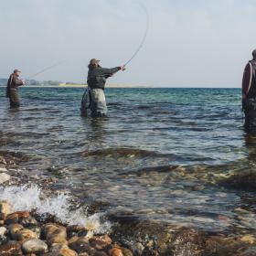
<path fill-rule="evenodd" d="M 81 115 L 88 116 L 91 111 L 91 117 L 104 117 L 107 114 L 107 104 L 104 94 L 105 83 L 109 77 L 119 70 L 125 70 L 123 66 L 112 69 L 104 69 L 99 65 L 100 60 L 91 59 L 88 65 L 87 84 L 88 89 L 82 96 L 80 111 Z"/>

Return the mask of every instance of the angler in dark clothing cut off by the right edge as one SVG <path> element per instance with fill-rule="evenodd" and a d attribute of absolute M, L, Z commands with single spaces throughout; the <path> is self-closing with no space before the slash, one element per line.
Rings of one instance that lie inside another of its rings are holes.
<path fill-rule="evenodd" d="M 246 132 L 256 133 L 256 49 L 247 63 L 242 78 L 242 109 Z"/>

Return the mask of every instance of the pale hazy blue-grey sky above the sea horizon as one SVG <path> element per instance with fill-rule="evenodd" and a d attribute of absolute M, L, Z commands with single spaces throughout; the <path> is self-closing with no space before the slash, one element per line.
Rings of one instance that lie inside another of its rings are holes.
<path fill-rule="evenodd" d="M 0 0 L 0 78 L 85 82 L 92 58 L 123 65 L 111 84 L 240 87 L 256 48 L 255 0 Z"/>

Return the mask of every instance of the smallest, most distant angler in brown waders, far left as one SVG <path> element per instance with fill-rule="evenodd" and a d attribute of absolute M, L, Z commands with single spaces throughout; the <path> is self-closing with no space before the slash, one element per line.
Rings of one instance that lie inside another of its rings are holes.
<path fill-rule="evenodd" d="M 18 87 L 25 84 L 25 80 L 19 79 L 20 72 L 20 70 L 15 69 L 7 82 L 6 98 L 9 98 L 11 108 L 16 108 L 20 105 L 18 98 Z"/>

